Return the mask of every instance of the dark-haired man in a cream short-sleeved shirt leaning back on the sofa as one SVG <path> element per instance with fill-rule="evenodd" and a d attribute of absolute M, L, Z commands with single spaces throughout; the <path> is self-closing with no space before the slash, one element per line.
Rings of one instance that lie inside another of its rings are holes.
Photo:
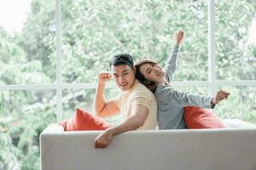
<path fill-rule="evenodd" d="M 110 127 L 95 140 L 96 148 L 105 148 L 114 135 L 131 130 L 154 130 L 157 124 L 157 102 L 154 94 L 135 78 L 135 66 L 130 54 L 119 54 L 109 62 L 112 74 L 98 74 L 94 106 L 96 116 L 122 114 L 124 122 Z M 122 94 L 117 99 L 106 101 L 105 83 L 113 77 Z"/>

